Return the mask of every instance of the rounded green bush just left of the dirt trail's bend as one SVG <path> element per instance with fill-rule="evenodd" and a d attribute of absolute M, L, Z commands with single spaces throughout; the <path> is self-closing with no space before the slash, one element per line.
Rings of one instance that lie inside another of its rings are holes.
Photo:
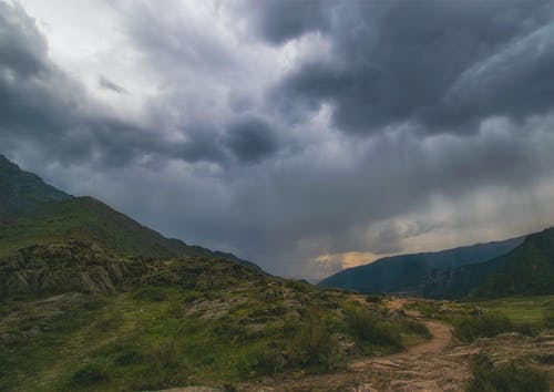
<path fill-rule="evenodd" d="M 402 348 L 400 333 L 388 322 L 381 321 L 369 311 L 362 309 L 349 310 L 345 320 L 346 332 L 360 345 L 375 344 Z"/>

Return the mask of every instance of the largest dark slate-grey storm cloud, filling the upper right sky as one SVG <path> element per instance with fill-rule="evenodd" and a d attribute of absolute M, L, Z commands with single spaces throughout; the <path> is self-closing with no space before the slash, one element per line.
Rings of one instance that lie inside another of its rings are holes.
<path fill-rule="evenodd" d="M 280 7 L 301 12 L 297 4 Z M 325 2 L 317 4 L 328 10 Z M 298 107 L 301 113 L 329 103 L 335 124 L 345 132 L 375 133 L 412 123 L 422 132 L 468 133 L 490 115 L 524 118 L 552 109 L 550 1 L 341 4 L 332 9 L 326 33 L 331 58 L 301 64 L 271 95 L 283 114 L 298 118 Z M 268 14 L 273 7 L 266 6 Z M 271 19 L 261 21 L 273 25 Z M 326 24 L 302 25 L 297 35 Z"/>

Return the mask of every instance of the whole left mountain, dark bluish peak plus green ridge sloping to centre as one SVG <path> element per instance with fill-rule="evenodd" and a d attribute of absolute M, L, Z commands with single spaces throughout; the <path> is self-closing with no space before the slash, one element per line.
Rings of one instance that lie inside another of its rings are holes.
<path fill-rule="evenodd" d="M 217 257 L 259 268 L 230 254 L 165 238 L 93 197 L 69 196 L 4 157 L 0 162 L 0 210 L 6 212 L 0 219 L 0 256 L 76 239 L 121 255 Z"/>

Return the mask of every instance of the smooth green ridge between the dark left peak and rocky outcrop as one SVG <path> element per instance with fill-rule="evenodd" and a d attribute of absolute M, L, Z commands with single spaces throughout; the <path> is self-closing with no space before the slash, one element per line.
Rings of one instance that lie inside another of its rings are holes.
<path fill-rule="evenodd" d="M 123 255 L 217 256 L 257 268 L 233 255 L 213 252 L 165 238 L 92 197 L 49 203 L 18 220 L 0 223 L 0 256 L 30 245 L 63 243 L 68 239 L 94 241 L 104 249 Z"/>

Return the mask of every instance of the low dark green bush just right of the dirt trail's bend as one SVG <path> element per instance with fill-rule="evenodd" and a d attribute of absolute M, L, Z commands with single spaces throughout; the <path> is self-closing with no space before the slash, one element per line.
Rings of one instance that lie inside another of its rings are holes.
<path fill-rule="evenodd" d="M 510 319 L 501 313 L 463 316 L 455 319 L 453 324 L 454 336 L 464 342 L 479 338 L 492 338 L 515 330 Z"/>

